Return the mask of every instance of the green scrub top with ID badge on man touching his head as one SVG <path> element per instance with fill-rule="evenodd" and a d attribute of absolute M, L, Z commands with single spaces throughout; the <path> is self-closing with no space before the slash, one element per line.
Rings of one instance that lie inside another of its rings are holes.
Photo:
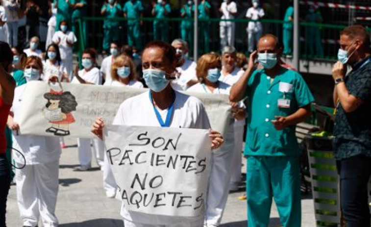
<path fill-rule="evenodd" d="M 271 83 L 264 69 L 255 70 L 248 80 L 247 135 L 245 154 L 251 156 L 295 156 L 300 154 L 295 126 L 276 130 L 274 116 L 289 116 L 314 101 L 304 79 L 295 71 L 281 68 Z M 285 107 L 278 100 L 289 100 Z"/>

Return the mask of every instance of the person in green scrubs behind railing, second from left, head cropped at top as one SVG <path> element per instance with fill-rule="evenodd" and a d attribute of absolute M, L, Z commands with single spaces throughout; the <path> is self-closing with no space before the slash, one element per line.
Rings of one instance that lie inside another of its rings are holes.
<path fill-rule="evenodd" d="M 143 5 L 140 0 L 126 1 L 124 8 L 124 17 L 126 18 L 142 18 Z M 142 36 L 140 32 L 140 25 L 143 24 L 141 20 L 127 21 L 127 44 L 142 49 Z"/>

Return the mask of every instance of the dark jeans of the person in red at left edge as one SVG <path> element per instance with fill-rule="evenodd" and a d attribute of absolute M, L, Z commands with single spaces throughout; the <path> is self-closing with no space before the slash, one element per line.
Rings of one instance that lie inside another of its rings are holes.
<path fill-rule="evenodd" d="M 0 227 L 6 227 L 6 199 L 10 189 L 9 163 L 5 154 L 0 154 Z"/>

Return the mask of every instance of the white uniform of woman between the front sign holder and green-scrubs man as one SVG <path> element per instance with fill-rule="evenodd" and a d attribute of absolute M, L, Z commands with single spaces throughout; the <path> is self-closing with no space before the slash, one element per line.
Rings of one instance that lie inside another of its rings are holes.
<path fill-rule="evenodd" d="M 211 92 L 204 84 L 197 83 L 187 89 L 187 91 L 229 95 L 230 86 L 219 81 L 218 87 Z M 223 146 L 214 150 L 212 153 L 204 226 L 219 226 L 223 217 L 225 203 L 227 202 L 229 193 L 231 162 L 234 151 L 233 122 L 233 119 L 231 119 L 224 135 L 225 142 Z"/>

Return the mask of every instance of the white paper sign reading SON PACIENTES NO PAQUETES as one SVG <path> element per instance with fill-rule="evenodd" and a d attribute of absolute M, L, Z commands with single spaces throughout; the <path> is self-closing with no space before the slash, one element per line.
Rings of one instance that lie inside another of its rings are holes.
<path fill-rule="evenodd" d="M 105 126 L 103 138 L 127 210 L 204 214 L 211 157 L 208 130 Z"/>

